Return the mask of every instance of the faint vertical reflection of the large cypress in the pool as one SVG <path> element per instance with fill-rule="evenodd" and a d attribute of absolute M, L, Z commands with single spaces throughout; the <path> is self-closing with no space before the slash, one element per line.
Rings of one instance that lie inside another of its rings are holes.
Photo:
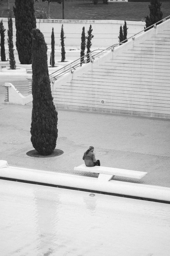
<path fill-rule="evenodd" d="M 50 255 L 57 250 L 59 208 L 61 202 L 57 193 L 35 191 L 38 226 L 38 256 Z M 45 254 L 44 254 L 45 252 Z"/>

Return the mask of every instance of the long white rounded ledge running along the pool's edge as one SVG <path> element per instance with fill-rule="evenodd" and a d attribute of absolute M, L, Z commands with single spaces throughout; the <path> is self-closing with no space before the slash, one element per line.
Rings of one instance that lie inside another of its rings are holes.
<path fill-rule="evenodd" d="M 1 168 L 0 177 L 170 201 L 170 188 L 125 181 L 110 180 L 100 182 L 97 181 L 97 178 L 93 177 L 48 172 L 13 166 Z"/>

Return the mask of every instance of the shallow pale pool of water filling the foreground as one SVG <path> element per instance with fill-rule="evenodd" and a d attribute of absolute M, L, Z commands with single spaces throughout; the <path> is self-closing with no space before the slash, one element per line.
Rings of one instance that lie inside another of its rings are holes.
<path fill-rule="evenodd" d="M 1 256 L 167 256 L 170 205 L 0 180 Z"/>

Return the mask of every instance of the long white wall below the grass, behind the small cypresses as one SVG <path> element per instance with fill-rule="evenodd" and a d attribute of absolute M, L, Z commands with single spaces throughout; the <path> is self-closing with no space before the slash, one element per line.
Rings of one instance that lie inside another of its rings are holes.
<path fill-rule="evenodd" d="M 4 27 L 8 29 L 7 18 L 3 20 Z M 13 18 L 13 42 L 16 40 L 15 19 Z M 144 29 L 145 22 L 126 21 L 128 27 L 127 36 L 130 37 Z M 51 32 L 54 27 L 55 44 L 60 45 L 61 26 L 64 25 L 64 34 L 66 36 L 65 45 L 78 46 L 81 44 L 82 27 L 85 26 L 85 32 L 92 25 L 92 46 L 108 47 L 115 43 L 119 43 L 120 25 L 124 25 L 124 21 L 119 20 L 41 20 L 36 19 L 36 27 L 44 34 L 47 44 L 51 43 Z M 7 43 L 7 31 L 5 34 L 5 42 Z"/>

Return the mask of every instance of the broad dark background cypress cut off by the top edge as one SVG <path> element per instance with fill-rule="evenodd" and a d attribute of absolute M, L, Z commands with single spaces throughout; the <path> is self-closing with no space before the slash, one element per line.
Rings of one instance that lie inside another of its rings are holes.
<path fill-rule="evenodd" d="M 21 64 L 31 64 L 31 31 L 36 27 L 34 0 L 15 0 L 16 48 Z"/>

